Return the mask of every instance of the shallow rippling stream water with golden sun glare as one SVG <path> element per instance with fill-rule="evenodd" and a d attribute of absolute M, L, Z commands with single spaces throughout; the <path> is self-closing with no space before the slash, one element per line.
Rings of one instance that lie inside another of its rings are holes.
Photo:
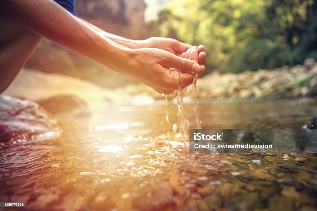
<path fill-rule="evenodd" d="M 317 107 L 294 102 L 198 107 L 202 128 L 301 128 Z M 183 106 L 195 128 L 192 105 Z M 168 107 L 172 125 L 178 108 Z M 179 134 L 168 141 L 165 108 L 64 116 L 58 139 L 1 143 L 1 201 L 27 201 L 27 210 L 316 209 L 316 154 L 184 154 Z"/>

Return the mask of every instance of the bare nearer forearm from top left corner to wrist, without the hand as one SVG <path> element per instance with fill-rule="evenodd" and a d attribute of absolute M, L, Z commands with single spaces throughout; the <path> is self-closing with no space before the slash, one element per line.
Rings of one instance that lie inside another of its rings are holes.
<path fill-rule="evenodd" d="M 87 26 L 52 0 L 3 0 L 1 13 L 54 42 L 120 72 L 131 50 Z"/>

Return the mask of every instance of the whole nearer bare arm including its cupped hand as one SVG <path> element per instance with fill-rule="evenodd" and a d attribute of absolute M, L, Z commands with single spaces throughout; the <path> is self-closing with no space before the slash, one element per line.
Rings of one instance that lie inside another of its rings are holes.
<path fill-rule="evenodd" d="M 0 12 L 24 27 L 161 93 L 171 93 L 204 67 L 155 48 L 126 48 L 97 32 L 52 0 L 3 0 Z M 179 70 L 179 71 L 178 71 Z M 176 74 L 171 74 L 175 72 Z M 174 75 L 177 75 L 175 79 Z"/>

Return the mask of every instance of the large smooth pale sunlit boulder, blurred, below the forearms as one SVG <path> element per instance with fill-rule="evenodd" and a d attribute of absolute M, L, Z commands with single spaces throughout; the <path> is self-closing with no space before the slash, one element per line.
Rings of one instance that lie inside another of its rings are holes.
<path fill-rule="evenodd" d="M 123 92 L 105 89 L 87 80 L 32 69 L 22 69 L 2 94 L 33 101 L 45 101 L 51 98 L 51 100 L 63 102 L 67 99 L 61 96 L 72 95 L 80 100 L 72 99 L 71 101 L 83 100 L 92 110 L 96 106 L 104 106 L 109 102 L 122 103 L 130 99 Z M 76 104 L 78 105 L 78 102 Z"/>

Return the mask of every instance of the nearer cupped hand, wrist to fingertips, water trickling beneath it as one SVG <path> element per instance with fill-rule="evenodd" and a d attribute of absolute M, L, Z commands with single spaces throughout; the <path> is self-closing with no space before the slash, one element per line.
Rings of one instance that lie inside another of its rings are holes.
<path fill-rule="evenodd" d="M 134 52 L 127 74 L 159 93 L 170 94 L 178 86 L 184 88 L 204 71 L 203 65 L 158 48 L 139 48 Z"/>

